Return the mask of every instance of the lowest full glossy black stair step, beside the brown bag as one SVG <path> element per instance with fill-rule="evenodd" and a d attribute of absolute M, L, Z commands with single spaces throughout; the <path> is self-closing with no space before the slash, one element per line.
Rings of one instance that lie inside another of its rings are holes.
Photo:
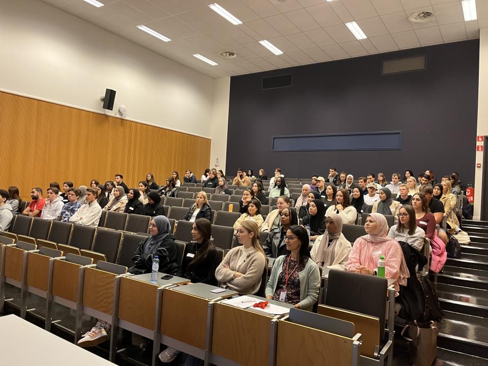
<path fill-rule="evenodd" d="M 488 355 L 488 319 L 445 311 L 438 323 L 437 346 L 472 356 Z"/>

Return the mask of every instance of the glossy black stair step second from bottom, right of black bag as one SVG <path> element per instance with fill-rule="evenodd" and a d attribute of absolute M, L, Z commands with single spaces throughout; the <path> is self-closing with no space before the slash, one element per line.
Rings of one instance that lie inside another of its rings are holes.
<path fill-rule="evenodd" d="M 488 290 L 438 283 L 437 296 L 444 311 L 488 318 Z"/>

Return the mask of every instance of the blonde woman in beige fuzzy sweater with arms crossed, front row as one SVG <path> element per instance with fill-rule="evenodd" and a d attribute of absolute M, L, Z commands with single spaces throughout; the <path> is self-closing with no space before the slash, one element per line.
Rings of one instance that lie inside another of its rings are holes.
<path fill-rule="evenodd" d="M 255 294 L 261 286 L 266 257 L 259 244 L 258 225 L 244 221 L 237 229 L 241 246 L 232 248 L 215 271 L 220 287 L 237 291 L 239 295 Z"/>

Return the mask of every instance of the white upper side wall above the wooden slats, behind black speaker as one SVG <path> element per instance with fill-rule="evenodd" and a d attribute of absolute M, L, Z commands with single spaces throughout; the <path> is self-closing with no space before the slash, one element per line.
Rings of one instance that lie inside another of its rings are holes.
<path fill-rule="evenodd" d="M 114 112 L 204 137 L 221 120 L 215 80 L 39 0 L 0 0 L 0 35 L 2 90 L 102 112 L 111 88 Z"/>

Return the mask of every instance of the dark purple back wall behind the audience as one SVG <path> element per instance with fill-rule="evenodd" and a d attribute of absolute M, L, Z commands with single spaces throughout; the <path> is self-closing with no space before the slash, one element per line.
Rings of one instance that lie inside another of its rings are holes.
<path fill-rule="evenodd" d="M 381 76 L 385 59 L 426 54 L 427 69 Z M 275 167 L 292 177 L 357 179 L 432 169 L 474 181 L 479 41 L 465 41 L 231 78 L 227 174 Z M 261 90 L 264 76 L 291 73 L 291 87 Z M 402 150 L 271 151 L 273 135 L 403 131 Z M 257 175 L 257 174 L 256 174 Z M 440 180 L 440 179 L 439 179 Z"/>

